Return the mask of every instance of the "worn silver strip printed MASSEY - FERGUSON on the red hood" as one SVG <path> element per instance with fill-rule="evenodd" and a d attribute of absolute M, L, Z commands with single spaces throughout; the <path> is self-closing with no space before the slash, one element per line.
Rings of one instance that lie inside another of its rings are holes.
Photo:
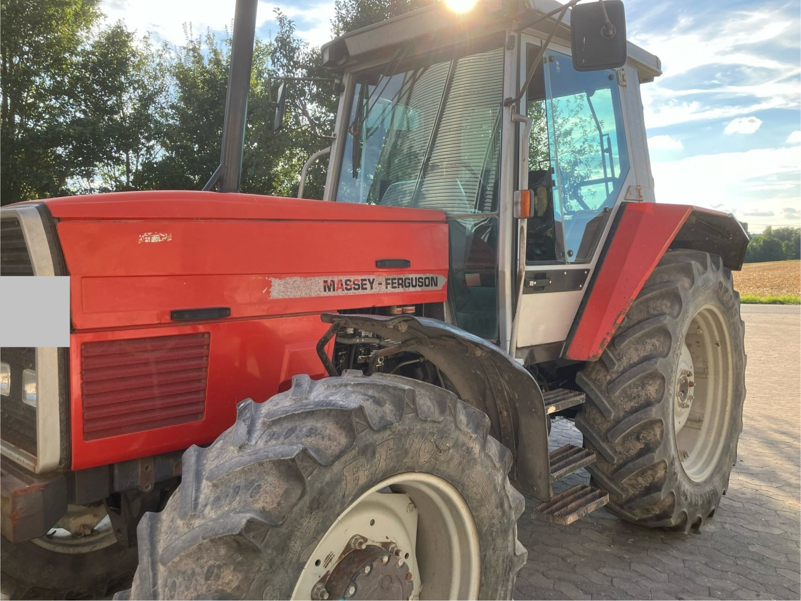
<path fill-rule="evenodd" d="M 271 298 L 309 298 L 339 294 L 380 294 L 405 290 L 442 290 L 448 278 L 433 274 L 318 275 L 309 278 L 269 278 Z"/>

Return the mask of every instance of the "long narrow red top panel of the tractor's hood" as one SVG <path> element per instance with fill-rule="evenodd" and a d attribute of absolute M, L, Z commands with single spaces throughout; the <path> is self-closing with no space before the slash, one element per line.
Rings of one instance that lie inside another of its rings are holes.
<path fill-rule="evenodd" d="M 199 190 L 115 192 L 48 198 L 37 202 L 45 202 L 57 219 L 445 222 L 445 213 L 438 210 Z"/>

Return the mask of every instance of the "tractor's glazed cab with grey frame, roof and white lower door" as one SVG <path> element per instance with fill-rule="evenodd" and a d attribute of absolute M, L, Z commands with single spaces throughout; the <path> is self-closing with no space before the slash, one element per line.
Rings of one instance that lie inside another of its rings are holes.
<path fill-rule="evenodd" d="M 597 33 L 599 4 L 440 3 L 322 49 L 343 83 L 325 199 L 444 211 L 449 321 L 522 355 L 566 339 L 618 206 L 653 200 L 639 83 L 659 61 L 621 60 L 606 2 L 619 64 L 577 68 L 571 10 Z"/>

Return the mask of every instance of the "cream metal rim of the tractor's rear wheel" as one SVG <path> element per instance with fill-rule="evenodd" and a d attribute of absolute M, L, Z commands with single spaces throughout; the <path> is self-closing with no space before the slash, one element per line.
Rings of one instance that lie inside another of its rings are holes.
<path fill-rule="evenodd" d="M 676 450 L 695 482 L 709 478 L 726 446 L 733 375 L 726 319 L 705 305 L 687 329 L 674 387 Z"/>

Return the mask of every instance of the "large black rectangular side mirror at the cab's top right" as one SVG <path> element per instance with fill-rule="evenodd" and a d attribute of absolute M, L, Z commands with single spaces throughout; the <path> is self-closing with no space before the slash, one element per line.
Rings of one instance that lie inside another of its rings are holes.
<path fill-rule="evenodd" d="M 570 44 L 577 71 L 617 69 L 625 65 L 628 53 L 623 2 L 603 0 L 574 6 L 570 12 Z"/>

